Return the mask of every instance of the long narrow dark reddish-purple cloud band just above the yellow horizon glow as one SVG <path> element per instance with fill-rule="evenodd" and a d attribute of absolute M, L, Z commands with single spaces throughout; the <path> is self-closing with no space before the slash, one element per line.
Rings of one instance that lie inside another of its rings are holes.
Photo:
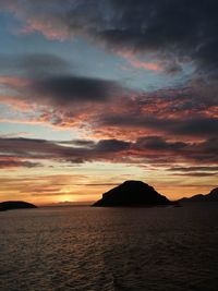
<path fill-rule="evenodd" d="M 25 167 L 36 167 L 33 160 L 45 159 L 60 162 L 81 163 L 84 161 L 118 161 L 128 163 L 166 163 L 174 162 L 218 162 L 218 140 L 210 138 L 198 143 L 181 143 L 164 140 L 160 136 L 142 136 L 136 142 L 122 140 L 100 140 L 88 142 L 80 140 L 70 142 L 52 142 L 31 138 L 0 138 L 2 159 L 29 160 Z M 208 166 L 205 166 L 208 167 Z M 177 170 L 182 168 L 174 168 Z M 185 168 L 186 169 L 186 168 Z M 194 172 L 194 168 L 190 172 Z M 207 168 L 201 168 L 206 172 Z M 172 168 L 172 171 L 173 170 Z M 187 170 L 189 172 L 189 170 Z"/>

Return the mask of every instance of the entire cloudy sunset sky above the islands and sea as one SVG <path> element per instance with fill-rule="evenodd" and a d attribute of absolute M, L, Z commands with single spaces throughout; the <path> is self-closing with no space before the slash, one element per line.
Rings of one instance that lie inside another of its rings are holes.
<path fill-rule="evenodd" d="M 216 0 L 1 0 L 0 201 L 216 187 L 217 15 Z"/>

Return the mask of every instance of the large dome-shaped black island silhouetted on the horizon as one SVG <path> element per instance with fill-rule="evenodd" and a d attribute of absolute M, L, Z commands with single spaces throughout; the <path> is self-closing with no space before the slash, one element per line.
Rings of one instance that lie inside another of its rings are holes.
<path fill-rule="evenodd" d="M 141 181 L 125 181 L 102 194 L 102 198 L 94 203 L 96 207 L 144 207 L 172 205 L 167 197 L 157 193 L 153 186 Z"/>

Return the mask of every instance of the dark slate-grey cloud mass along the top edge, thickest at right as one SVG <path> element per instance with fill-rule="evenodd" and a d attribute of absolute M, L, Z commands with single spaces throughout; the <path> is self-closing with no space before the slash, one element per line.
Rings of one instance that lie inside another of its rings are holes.
<path fill-rule="evenodd" d="M 23 21 L 23 33 L 50 39 L 82 35 L 113 50 L 155 52 L 161 59 L 194 61 L 217 71 L 218 3 L 216 0 L 2 0 L 0 8 Z"/>

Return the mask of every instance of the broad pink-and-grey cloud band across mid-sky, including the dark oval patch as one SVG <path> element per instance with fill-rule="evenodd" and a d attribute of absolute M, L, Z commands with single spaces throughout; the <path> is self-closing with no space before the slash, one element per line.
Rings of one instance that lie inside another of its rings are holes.
<path fill-rule="evenodd" d="M 98 138 L 130 141 L 141 135 L 194 141 L 216 136 L 218 131 L 215 84 L 198 81 L 183 88 L 140 93 L 114 81 L 51 73 L 41 78 L 1 76 L 0 83 L 15 92 L 0 96 L 0 102 L 29 111 L 27 123 L 87 126 Z"/>

